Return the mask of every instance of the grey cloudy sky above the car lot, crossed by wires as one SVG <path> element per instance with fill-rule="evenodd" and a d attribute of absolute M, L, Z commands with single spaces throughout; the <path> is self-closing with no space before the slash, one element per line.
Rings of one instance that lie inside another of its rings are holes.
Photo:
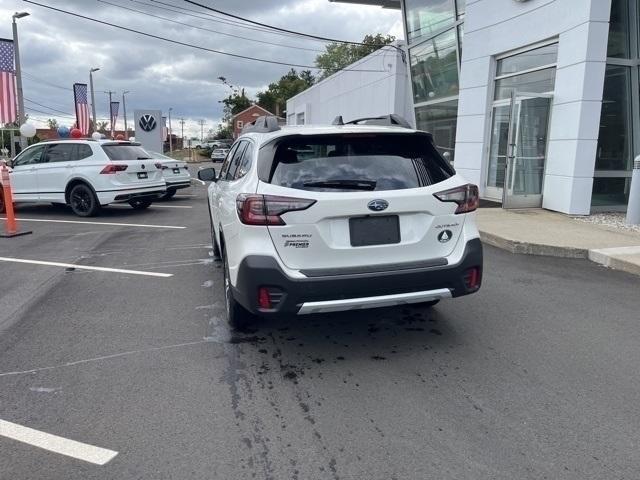
<path fill-rule="evenodd" d="M 184 43 L 285 63 L 313 65 L 324 48 L 322 42 L 267 33 L 261 27 L 207 12 L 183 0 L 34 1 Z M 329 38 L 359 41 L 367 33 L 402 35 L 400 12 L 380 7 L 329 0 L 199 0 L 199 3 Z M 104 91 L 117 92 L 114 100 L 121 100 L 122 91 L 129 90 L 129 119 L 135 108 L 167 112 L 172 107 L 172 118 L 176 119 L 174 131 L 178 133 L 177 119 L 183 117 L 185 135 L 199 136 L 198 120 L 206 121 L 205 131 L 215 128 L 221 117 L 219 101 L 229 93 L 218 77 L 226 77 L 229 83 L 244 87 L 253 95 L 290 68 L 175 45 L 22 0 L 0 1 L 0 38 L 11 38 L 11 16 L 16 11 L 31 13 L 18 23 L 25 109 L 38 126 L 43 126 L 47 118 L 70 125 L 73 119 L 64 113 L 73 112 L 72 84 L 88 83 L 89 68 L 100 67 L 94 74 L 99 119 L 108 117 Z M 122 127 L 122 118 L 118 126 Z"/>

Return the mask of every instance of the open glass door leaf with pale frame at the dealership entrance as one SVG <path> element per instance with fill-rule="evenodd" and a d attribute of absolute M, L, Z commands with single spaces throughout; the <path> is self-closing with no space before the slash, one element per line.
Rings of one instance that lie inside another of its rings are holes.
<path fill-rule="evenodd" d="M 512 97 L 502 208 L 542 207 L 551 95 Z"/>

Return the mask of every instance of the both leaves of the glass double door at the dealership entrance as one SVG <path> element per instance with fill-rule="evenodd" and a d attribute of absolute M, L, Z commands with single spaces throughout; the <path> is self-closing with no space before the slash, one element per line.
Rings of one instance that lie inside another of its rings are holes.
<path fill-rule="evenodd" d="M 514 93 L 493 105 L 485 196 L 503 208 L 542 206 L 551 98 Z"/>

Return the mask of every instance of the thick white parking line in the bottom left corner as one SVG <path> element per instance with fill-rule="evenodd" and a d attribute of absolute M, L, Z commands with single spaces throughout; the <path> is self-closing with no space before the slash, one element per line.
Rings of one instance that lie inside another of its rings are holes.
<path fill-rule="evenodd" d="M 87 443 L 76 442 L 75 440 L 69 440 L 68 438 L 41 432 L 33 428 L 23 427 L 17 423 L 11 423 L 5 420 L 0 420 L 0 435 L 95 465 L 104 465 L 118 455 L 118 452 L 114 452 L 113 450 L 94 447 Z"/>

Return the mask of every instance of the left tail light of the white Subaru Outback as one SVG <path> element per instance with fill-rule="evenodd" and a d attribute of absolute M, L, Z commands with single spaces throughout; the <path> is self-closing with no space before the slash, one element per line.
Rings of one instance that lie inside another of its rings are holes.
<path fill-rule="evenodd" d="M 241 193 L 236 199 L 236 209 L 245 225 L 286 225 L 280 215 L 306 210 L 314 203 L 315 200 L 306 198 Z"/>

